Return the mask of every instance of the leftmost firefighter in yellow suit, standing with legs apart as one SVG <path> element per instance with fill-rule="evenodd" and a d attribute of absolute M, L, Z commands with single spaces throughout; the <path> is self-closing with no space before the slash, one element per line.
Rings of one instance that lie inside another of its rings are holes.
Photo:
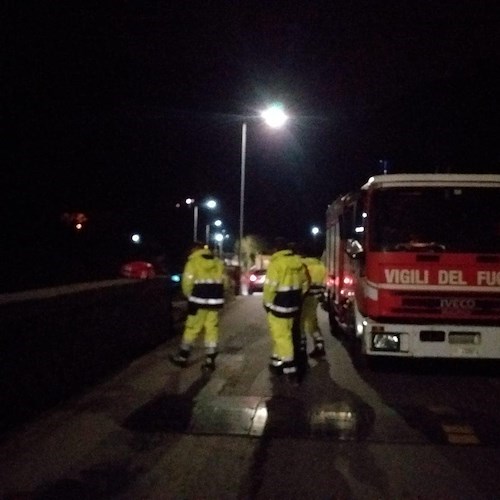
<path fill-rule="evenodd" d="M 192 346 L 204 330 L 206 357 L 202 369 L 213 371 L 219 341 L 219 311 L 228 286 L 224 263 L 203 243 L 194 242 L 184 266 L 181 286 L 188 299 L 188 315 L 180 348 L 169 356 L 170 361 L 177 366 L 187 366 Z"/>

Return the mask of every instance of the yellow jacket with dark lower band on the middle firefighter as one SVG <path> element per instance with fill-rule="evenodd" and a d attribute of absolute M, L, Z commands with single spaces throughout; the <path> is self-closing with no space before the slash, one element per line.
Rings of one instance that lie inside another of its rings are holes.
<path fill-rule="evenodd" d="M 295 316 L 308 288 L 307 271 L 300 256 L 292 250 L 280 250 L 271 256 L 263 290 L 267 311 L 281 318 Z"/>

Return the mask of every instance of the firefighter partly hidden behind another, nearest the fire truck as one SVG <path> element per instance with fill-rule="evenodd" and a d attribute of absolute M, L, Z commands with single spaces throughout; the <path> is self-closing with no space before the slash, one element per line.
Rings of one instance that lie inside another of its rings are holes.
<path fill-rule="evenodd" d="M 311 338 L 314 343 L 313 350 L 309 353 L 311 358 L 322 358 L 325 356 L 325 341 L 318 323 L 318 306 L 324 299 L 326 291 L 326 266 L 321 262 L 315 252 L 304 248 L 302 251 L 302 262 L 307 267 L 311 280 L 309 290 L 302 301 L 300 316 L 300 331 L 302 343 L 307 345 L 307 339 Z"/>

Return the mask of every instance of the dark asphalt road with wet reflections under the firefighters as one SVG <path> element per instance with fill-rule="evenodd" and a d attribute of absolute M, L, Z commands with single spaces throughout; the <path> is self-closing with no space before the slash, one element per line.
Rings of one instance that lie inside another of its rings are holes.
<path fill-rule="evenodd" d="M 179 336 L 2 436 L 3 498 L 498 498 L 500 378 L 456 364 L 356 371 L 328 333 L 298 387 L 269 374 L 261 296 L 221 319 L 202 375 Z M 182 315 L 179 316 L 182 319 Z M 179 322 L 178 332 L 182 323 Z"/>

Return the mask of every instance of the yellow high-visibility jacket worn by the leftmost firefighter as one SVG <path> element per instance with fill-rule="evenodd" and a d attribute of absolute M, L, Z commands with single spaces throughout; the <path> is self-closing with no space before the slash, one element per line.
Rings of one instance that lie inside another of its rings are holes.
<path fill-rule="evenodd" d="M 203 309 L 219 309 L 224 305 L 227 278 L 224 263 L 202 248 L 188 257 L 182 273 L 182 292 L 189 305 Z"/>

